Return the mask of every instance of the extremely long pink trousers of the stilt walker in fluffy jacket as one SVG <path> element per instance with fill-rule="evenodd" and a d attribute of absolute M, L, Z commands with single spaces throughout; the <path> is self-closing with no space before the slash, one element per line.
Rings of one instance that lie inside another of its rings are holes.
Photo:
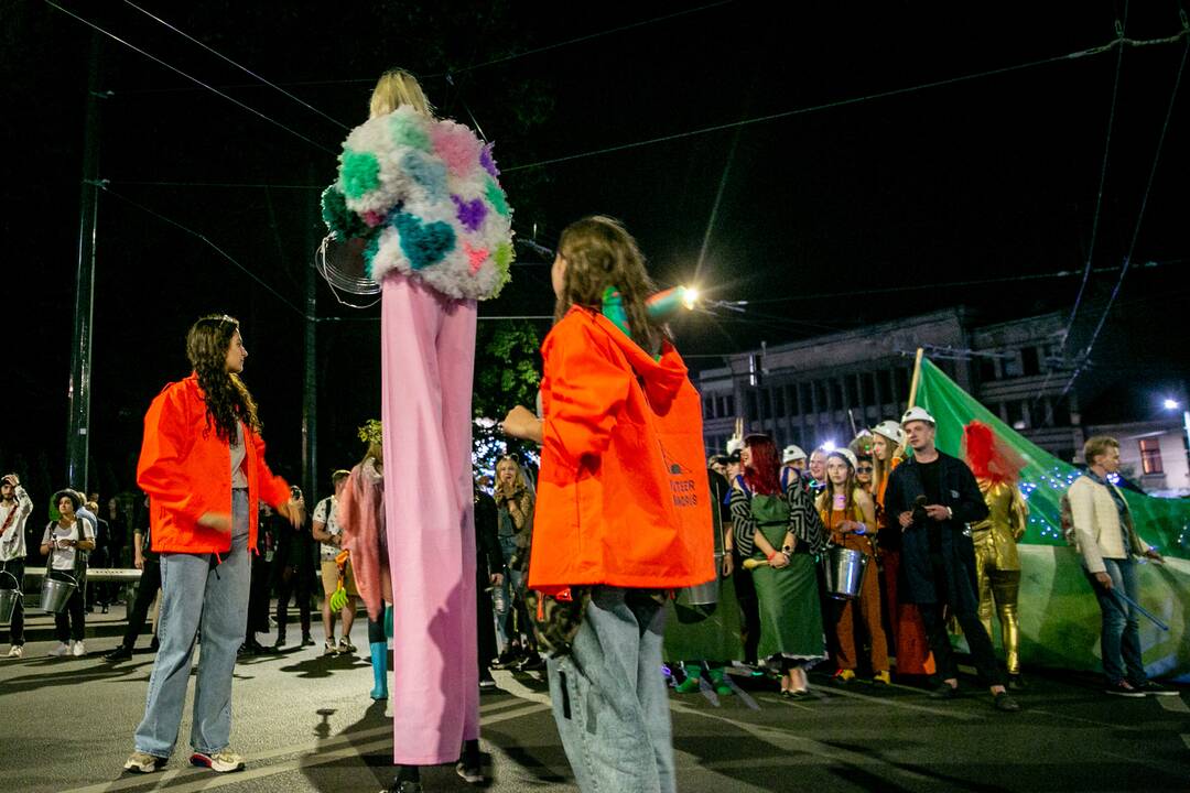
<path fill-rule="evenodd" d="M 475 301 L 400 273 L 381 303 L 384 517 L 393 574 L 393 760 L 480 737 L 471 380 Z"/>

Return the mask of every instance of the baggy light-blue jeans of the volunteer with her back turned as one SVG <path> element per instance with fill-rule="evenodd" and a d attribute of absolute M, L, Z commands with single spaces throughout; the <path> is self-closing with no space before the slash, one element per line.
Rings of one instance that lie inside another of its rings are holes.
<path fill-rule="evenodd" d="M 553 720 L 583 793 L 676 789 L 664 629 L 647 593 L 597 586 L 570 655 L 547 661 Z"/>

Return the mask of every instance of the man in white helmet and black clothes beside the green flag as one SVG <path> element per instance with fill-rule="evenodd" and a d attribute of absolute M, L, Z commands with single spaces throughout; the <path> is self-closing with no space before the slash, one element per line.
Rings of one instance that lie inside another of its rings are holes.
<path fill-rule="evenodd" d="M 933 416 L 910 408 L 901 426 L 913 457 L 892 471 L 884 509 L 901 524 L 904 599 L 921 609 L 941 679 L 931 696 L 958 696 L 958 667 L 945 622 L 950 609 L 966 636 L 981 681 L 991 688 L 996 709 L 1017 711 L 1020 705 L 1004 690 L 991 640 L 979 622 L 975 546 L 966 524 L 985 518 L 988 505 L 966 464 L 934 446 Z"/>

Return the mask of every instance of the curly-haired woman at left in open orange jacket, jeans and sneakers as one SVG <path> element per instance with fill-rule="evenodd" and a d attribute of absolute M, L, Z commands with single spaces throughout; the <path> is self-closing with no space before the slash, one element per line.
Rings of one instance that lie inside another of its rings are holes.
<path fill-rule="evenodd" d="M 244 767 L 228 747 L 231 680 L 248 625 L 256 504 L 273 504 L 294 525 L 302 518 L 289 485 L 264 462 L 256 402 L 239 378 L 248 358 L 239 322 L 202 317 L 186 336 L 186 354 L 194 373 L 149 405 L 137 464 L 162 580 L 161 647 L 136 751 L 124 763 L 142 774 L 161 769 L 174 751 L 200 624 L 190 763 L 215 772 Z"/>

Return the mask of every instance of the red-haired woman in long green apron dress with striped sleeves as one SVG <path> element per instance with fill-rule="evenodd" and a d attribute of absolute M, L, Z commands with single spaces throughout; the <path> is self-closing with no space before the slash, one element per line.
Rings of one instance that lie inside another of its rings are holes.
<path fill-rule="evenodd" d="M 826 657 L 814 566 L 826 533 L 798 477 L 782 491 L 777 447 L 768 435 L 745 438 L 740 462 L 744 472 L 732 482 L 732 525 L 745 565 L 754 567 L 757 657 L 779 667 L 782 697 L 806 697 L 806 669 Z"/>

